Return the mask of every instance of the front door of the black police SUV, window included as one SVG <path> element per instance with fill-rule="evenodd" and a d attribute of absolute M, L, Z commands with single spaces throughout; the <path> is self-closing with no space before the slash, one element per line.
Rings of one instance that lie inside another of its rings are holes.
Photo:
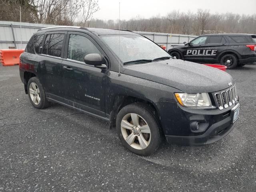
<path fill-rule="evenodd" d="M 182 50 L 182 55 L 185 60 L 192 62 L 204 62 L 206 41 L 208 36 L 200 36 L 190 42 L 190 45 L 186 46 Z"/>

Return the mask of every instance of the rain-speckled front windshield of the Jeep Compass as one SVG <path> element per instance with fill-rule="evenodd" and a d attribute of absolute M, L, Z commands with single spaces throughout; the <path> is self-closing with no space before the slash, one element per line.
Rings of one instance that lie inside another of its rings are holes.
<path fill-rule="evenodd" d="M 119 35 L 101 36 L 109 48 L 119 56 Z M 135 60 L 153 60 L 170 57 L 161 47 L 152 41 L 138 35 L 120 35 L 120 60 L 125 62 Z"/>

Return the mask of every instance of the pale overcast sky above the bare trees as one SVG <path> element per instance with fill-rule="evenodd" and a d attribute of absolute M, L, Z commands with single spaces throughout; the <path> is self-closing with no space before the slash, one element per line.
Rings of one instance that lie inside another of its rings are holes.
<path fill-rule="evenodd" d="M 255 14 L 256 0 L 99 0 L 100 10 L 93 18 L 108 20 L 118 19 L 120 2 L 120 19 L 150 18 L 165 16 L 172 10 L 196 12 L 198 8 L 209 9 L 211 13 Z"/>

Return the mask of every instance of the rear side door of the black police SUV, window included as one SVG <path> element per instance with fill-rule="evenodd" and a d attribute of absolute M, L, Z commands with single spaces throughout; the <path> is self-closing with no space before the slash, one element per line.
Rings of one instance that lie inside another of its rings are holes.
<path fill-rule="evenodd" d="M 228 43 L 225 38 L 220 36 L 209 36 L 205 49 L 204 62 L 205 63 L 216 63 L 218 62 L 218 56 L 222 51 L 228 48 Z"/>

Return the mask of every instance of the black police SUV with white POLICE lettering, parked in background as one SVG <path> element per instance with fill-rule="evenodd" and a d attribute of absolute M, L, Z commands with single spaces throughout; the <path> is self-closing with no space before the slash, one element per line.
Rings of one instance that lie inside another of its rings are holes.
<path fill-rule="evenodd" d="M 177 59 L 199 63 L 220 63 L 233 69 L 256 62 L 256 35 L 206 34 L 168 52 Z"/>

